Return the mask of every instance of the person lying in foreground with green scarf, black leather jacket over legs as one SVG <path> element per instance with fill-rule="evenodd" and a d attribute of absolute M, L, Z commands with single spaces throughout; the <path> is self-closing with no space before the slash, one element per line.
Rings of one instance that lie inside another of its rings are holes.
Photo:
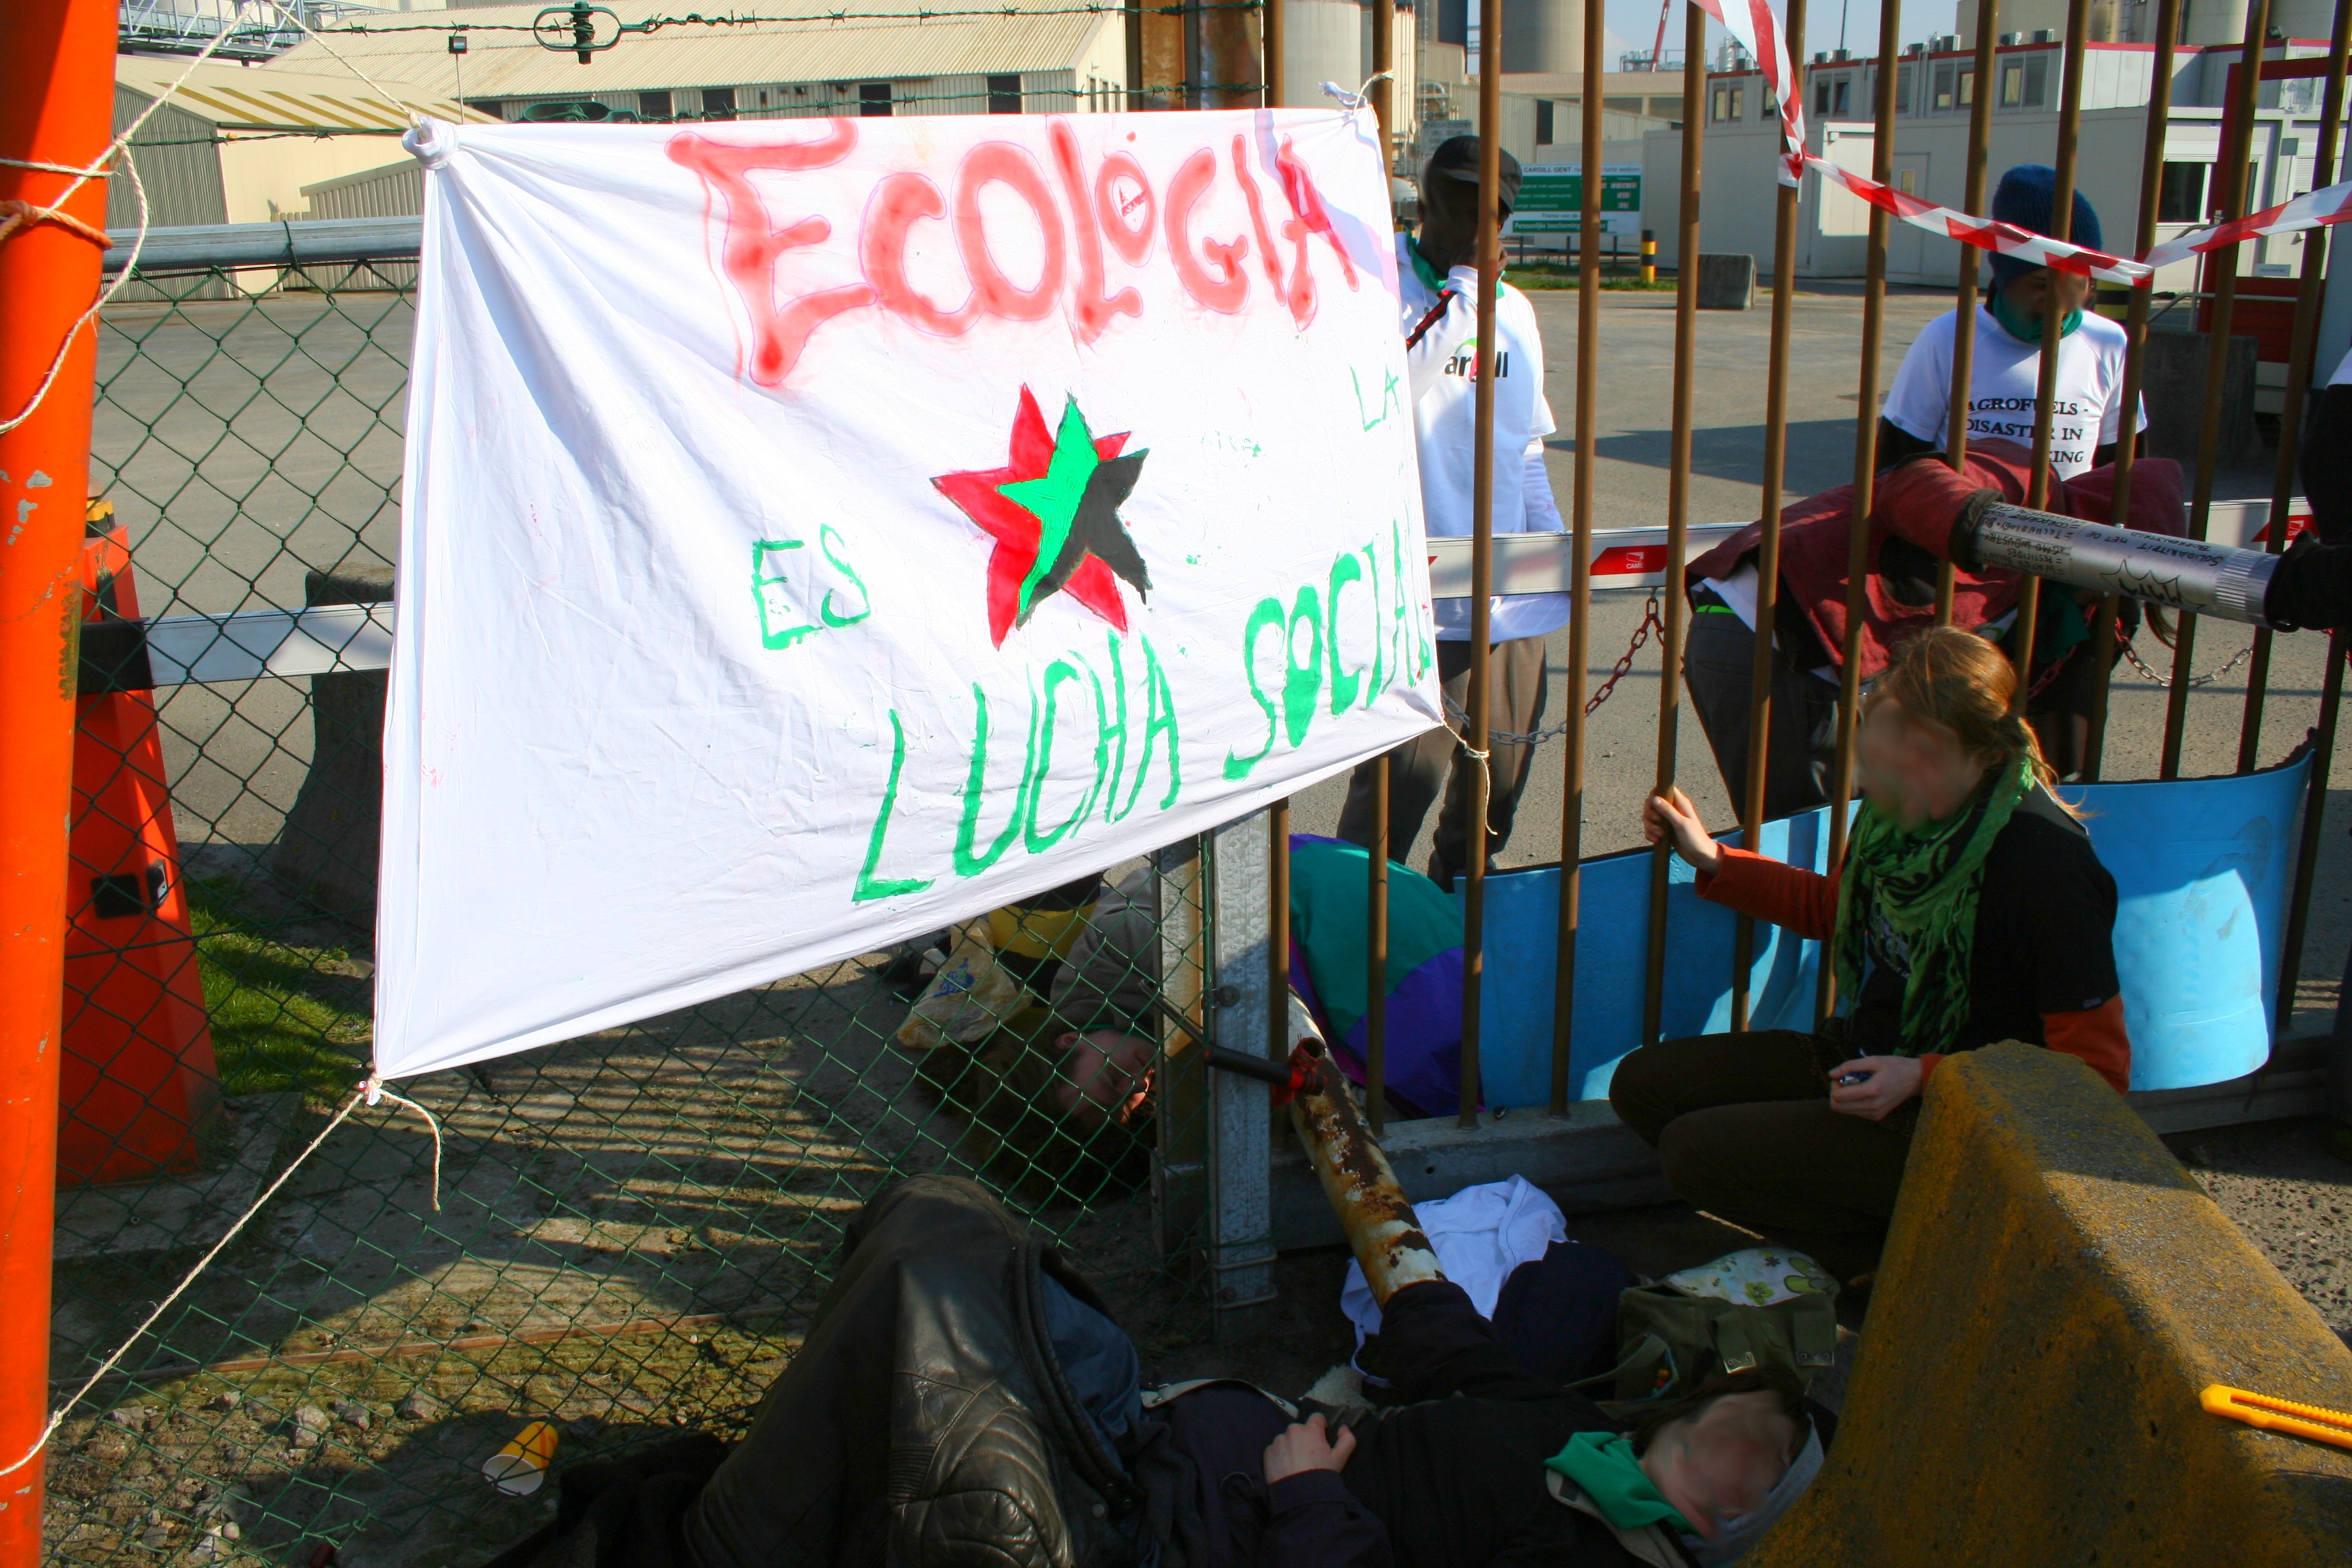
<path fill-rule="evenodd" d="M 741 1443 L 576 1465 L 492 1568 L 1677 1568 L 1731 1561 L 1820 1465 L 1778 1368 L 1625 1422 L 1449 1281 L 1397 1291 L 1378 1345 L 1416 1401 L 1385 1415 L 1232 1382 L 1145 1406 L 1084 1279 L 981 1187 L 913 1178 L 849 1225 Z"/>

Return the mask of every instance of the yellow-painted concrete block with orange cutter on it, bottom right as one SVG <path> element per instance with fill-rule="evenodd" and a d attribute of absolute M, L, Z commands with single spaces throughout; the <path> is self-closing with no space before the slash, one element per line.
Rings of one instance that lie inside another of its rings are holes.
<path fill-rule="evenodd" d="M 2213 1382 L 2352 1410 L 2352 1352 L 2079 1060 L 1955 1056 L 1837 1446 L 1745 1563 L 2343 1561 L 2352 1453 L 2206 1415 Z"/>

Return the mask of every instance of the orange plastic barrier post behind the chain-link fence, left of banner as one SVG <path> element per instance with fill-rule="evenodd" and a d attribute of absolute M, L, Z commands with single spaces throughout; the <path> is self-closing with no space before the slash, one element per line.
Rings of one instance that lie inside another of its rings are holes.
<path fill-rule="evenodd" d="M 136 621 L 129 531 L 89 503 L 82 623 Z M 162 771 L 155 693 L 85 691 L 73 733 L 56 1180 L 186 1171 L 221 1103 Z"/>

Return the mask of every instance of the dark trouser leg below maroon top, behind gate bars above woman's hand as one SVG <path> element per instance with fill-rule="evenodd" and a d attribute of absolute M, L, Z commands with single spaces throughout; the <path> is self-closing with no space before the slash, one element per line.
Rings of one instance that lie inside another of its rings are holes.
<path fill-rule="evenodd" d="M 1682 679 L 1708 731 L 1715 766 L 1733 804 L 1748 799 L 1748 719 L 1757 635 L 1726 609 L 1691 616 Z M 1776 651 L 1771 668 L 1771 755 L 1764 759 L 1764 818 L 1811 811 L 1837 776 L 1837 686 Z"/>

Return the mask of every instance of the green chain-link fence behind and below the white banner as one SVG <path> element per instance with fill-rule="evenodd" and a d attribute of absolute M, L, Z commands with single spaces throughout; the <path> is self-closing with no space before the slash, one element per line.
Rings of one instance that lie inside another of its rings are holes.
<path fill-rule="evenodd" d="M 103 322 L 54 1399 L 365 1072 L 412 287 L 202 268 Z M 440 1152 L 393 1105 L 334 1131 L 59 1432 L 54 1559 L 482 1561 L 553 1509 L 482 1474 L 524 1422 L 557 1465 L 739 1429 L 913 1171 L 1004 1192 L 1145 1356 L 1202 1335 L 1207 1091 L 1155 1009 L 1202 1006 L 1204 884 L 1169 851 L 400 1084 Z M 894 1039 L 941 959 L 1000 966 L 993 1013 Z"/>

